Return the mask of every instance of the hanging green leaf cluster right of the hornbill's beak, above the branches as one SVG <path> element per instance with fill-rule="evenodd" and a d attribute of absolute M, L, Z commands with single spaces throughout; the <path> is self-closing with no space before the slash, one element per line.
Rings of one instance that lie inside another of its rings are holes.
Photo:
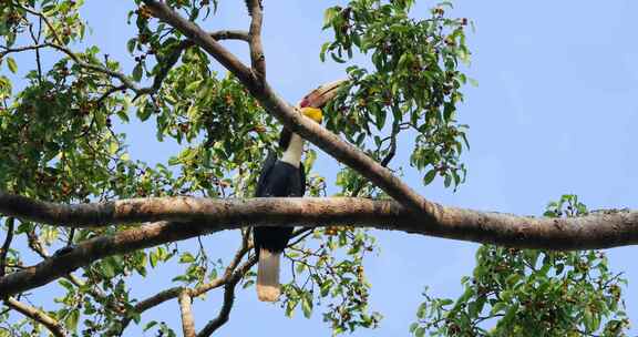
<path fill-rule="evenodd" d="M 369 140 L 369 153 L 379 161 L 394 152 L 400 133 L 409 132 L 415 140 L 410 164 L 425 172 L 423 183 L 440 175 L 445 187 L 457 186 L 466 172 L 459 156 L 469 146 L 467 125 L 455 116 L 467 81 L 459 70 L 470 62 L 467 19 L 445 18 L 450 2 L 433 8 L 430 18 L 414 19 L 412 4 L 353 0 L 326 10 L 325 29 L 332 30 L 335 41 L 323 44 L 321 59 L 329 54 L 344 63 L 356 50 L 373 65 L 347 68 L 351 86 L 332 103 L 327 127 L 363 149 Z"/>

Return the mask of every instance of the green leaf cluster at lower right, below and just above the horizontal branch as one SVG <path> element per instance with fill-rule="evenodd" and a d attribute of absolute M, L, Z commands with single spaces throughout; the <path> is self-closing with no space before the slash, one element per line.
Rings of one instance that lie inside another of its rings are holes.
<path fill-rule="evenodd" d="M 545 216 L 583 216 L 576 195 L 548 204 Z M 410 331 L 425 336 L 626 336 L 622 274 L 604 252 L 545 252 L 484 245 L 456 299 L 434 298 Z"/>

